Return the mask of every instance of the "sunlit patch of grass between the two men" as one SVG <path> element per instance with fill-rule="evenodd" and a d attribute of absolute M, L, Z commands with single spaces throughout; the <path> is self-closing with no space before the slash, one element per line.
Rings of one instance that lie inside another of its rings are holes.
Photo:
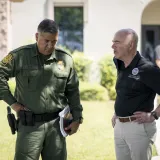
<path fill-rule="evenodd" d="M 67 138 L 69 160 L 115 160 L 113 102 L 83 102 L 84 124 Z"/>

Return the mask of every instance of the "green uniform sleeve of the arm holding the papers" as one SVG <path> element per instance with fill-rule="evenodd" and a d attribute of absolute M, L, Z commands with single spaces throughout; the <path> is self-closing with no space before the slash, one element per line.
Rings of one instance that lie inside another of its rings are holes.
<path fill-rule="evenodd" d="M 77 120 L 82 117 L 82 105 L 80 104 L 79 81 L 75 69 L 70 69 L 65 95 L 73 115 L 73 119 Z"/>

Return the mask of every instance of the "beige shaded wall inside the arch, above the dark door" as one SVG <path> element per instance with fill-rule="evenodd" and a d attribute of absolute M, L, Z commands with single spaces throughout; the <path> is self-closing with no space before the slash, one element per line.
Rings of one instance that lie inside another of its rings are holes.
<path fill-rule="evenodd" d="M 160 25 L 160 0 L 153 1 L 144 9 L 142 24 Z"/>

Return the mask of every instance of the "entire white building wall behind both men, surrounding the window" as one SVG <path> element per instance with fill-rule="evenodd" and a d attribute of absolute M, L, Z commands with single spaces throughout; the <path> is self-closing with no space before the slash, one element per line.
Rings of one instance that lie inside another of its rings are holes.
<path fill-rule="evenodd" d="M 84 52 L 93 58 L 112 53 L 114 33 L 121 28 L 133 28 L 141 35 L 141 16 L 151 0 L 46 0 L 50 4 L 85 4 Z M 45 17 L 45 0 L 12 3 L 13 47 L 34 38 L 38 23 Z M 68 3 L 69 2 L 69 3 Z M 87 2 L 87 3 L 85 3 Z M 53 9 L 52 5 L 48 5 Z M 48 12 L 51 16 L 53 11 Z M 140 42 L 140 41 L 139 41 Z M 140 48 L 140 43 L 138 48 Z"/>

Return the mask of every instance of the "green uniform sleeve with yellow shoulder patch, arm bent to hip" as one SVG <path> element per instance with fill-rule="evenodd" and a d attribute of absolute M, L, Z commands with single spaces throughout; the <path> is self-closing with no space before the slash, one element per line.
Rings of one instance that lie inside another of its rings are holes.
<path fill-rule="evenodd" d="M 16 99 L 11 94 L 8 86 L 8 80 L 15 76 L 15 58 L 12 53 L 9 53 L 0 62 L 0 99 L 7 104 L 12 105 Z"/>

